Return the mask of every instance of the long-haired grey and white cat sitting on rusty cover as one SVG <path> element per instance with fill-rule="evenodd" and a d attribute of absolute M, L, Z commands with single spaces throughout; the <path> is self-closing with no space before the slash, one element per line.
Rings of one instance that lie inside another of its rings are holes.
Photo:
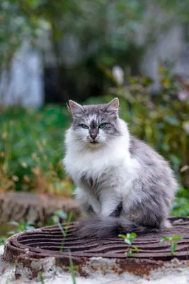
<path fill-rule="evenodd" d="M 76 198 L 88 213 L 80 236 L 144 234 L 168 226 L 177 183 L 164 158 L 130 135 L 118 115 L 119 100 L 81 106 L 69 101 L 64 166 Z"/>

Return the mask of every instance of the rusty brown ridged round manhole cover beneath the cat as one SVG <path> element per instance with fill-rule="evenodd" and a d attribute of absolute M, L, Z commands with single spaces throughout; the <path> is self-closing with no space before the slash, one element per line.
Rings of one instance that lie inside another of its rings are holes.
<path fill-rule="evenodd" d="M 101 240 L 81 239 L 76 236 L 74 223 L 69 226 L 63 251 L 60 251 L 62 232 L 55 225 L 11 236 L 6 240 L 4 258 L 12 263 L 16 261 L 20 268 L 31 269 L 32 273 L 37 266 L 31 263 L 40 263 L 37 269 L 39 272 L 45 269 L 45 265 L 41 264 L 42 261 L 50 258 L 53 259 L 55 266 L 64 269 L 69 266 L 71 257 L 74 265 L 79 266 L 78 271 L 81 275 L 87 275 L 89 268 L 92 270 L 109 269 L 114 273 L 127 271 L 144 275 L 151 269 L 171 263 L 173 256 L 171 256 L 170 243 L 167 241 L 161 243 L 160 239 L 163 236 L 177 235 L 182 239 L 176 240 L 178 246 L 174 257 L 180 261 L 177 263 L 185 263 L 185 266 L 189 266 L 187 261 L 189 258 L 189 218 L 171 217 L 170 221 L 173 224 L 171 229 L 158 234 L 137 236 L 133 246 L 137 246 L 139 252 L 133 250 L 131 258 L 125 256 L 127 245 L 123 239 L 119 237 Z M 47 267 L 50 269 L 49 266 Z"/>

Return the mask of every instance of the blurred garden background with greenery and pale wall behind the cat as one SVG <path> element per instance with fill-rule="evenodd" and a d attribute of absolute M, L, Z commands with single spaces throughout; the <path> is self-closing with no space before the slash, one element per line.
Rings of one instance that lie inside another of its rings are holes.
<path fill-rule="evenodd" d="M 0 7 L 0 192 L 71 197 L 60 163 L 66 103 L 119 97 L 131 133 L 170 160 L 180 182 L 171 214 L 189 215 L 188 0 Z"/>

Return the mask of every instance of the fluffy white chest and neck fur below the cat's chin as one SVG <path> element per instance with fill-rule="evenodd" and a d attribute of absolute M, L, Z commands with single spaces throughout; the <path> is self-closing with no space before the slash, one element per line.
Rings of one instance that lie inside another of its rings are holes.
<path fill-rule="evenodd" d="M 139 165 L 130 157 L 129 133 L 125 131 L 125 135 L 117 137 L 110 145 L 93 151 L 74 146 L 73 135 L 69 129 L 66 136 L 67 155 L 64 158 L 67 173 L 80 190 L 86 191 L 96 211 L 109 214 L 110 208 L 116 207 L 127 195 L 133 195 L 132 182 L 137 178 Z M 96 185 L 83 182 L 83 179 L 96 181 Z M 95 195 L 101 197 L 101 208 Z"/>

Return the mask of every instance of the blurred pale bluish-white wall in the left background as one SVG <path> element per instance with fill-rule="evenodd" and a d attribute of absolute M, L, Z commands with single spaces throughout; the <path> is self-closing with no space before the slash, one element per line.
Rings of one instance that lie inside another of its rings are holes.
<path fill-rule="evenodd" d="M 0 104 L 40 107 L 44 102 L 42 58 L 39 51 L 23 43 L 13 58 L 10 72 L 0 78 Z"/>

